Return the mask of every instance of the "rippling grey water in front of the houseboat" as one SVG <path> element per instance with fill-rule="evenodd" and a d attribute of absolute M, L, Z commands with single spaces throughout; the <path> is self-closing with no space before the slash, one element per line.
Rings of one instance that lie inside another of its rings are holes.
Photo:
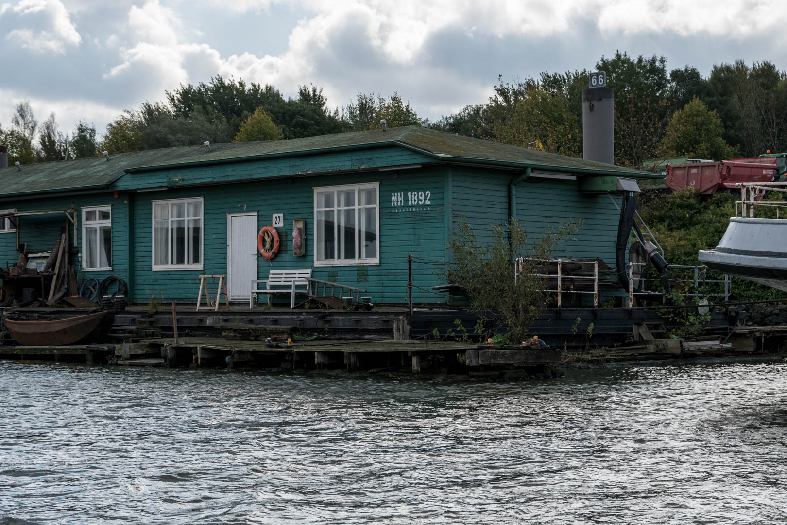
<path fill-rule="evenodd" d="M 785 386 L 0 361 L 0 523 L 785 523 Z"/>

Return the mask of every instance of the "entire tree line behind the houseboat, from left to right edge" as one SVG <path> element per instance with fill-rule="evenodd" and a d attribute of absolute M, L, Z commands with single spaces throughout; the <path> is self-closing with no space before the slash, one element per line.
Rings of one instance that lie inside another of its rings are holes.
<path fill-rule="evenodd" d="M 667 69 L 664 57 L 601 57 L 615 91 L 615 163 L 640 167 L 658 157 L 722 160 L 787 151 L 787 75 L 770 61 L 715 65 L 704 77 L 693 66 Z M 210 142 L 295 139 L 344 131 L 425 124 L 430 128 L 582 156 L 582 91 L 589 71 L 542 72 L 538 77 L 498 77 L 493 95 L 435 122 L 420 118 L 397 93 L 357 94 L 331 109 L 323 90 L 298 87 L 285 98 L 270 84 L 216 76 L 181 84 L 165 99 L 143 102 L 110 122 L 97 138 L 81 120 L 70 134 L 54 113 L 40 125 L 27 102 L 17 104 L 11 125 L 0 127 L 9 161 L 61 160 Z"/>

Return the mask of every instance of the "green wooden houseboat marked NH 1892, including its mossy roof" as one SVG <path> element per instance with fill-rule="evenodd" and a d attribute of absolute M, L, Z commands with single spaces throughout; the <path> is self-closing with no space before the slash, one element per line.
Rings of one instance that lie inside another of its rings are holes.
<path fill-rule="evenodd" d="M 119 275 L 135 303 L 194 303 L 199 275 L 226 274 L 238 305 L 252 279 L 301 268 L 368 290 L 377 304 L 405 303 L 408 255 L 447 261 L 461 217 L 480 238 L 512 214 L 530 235 L 582 220 L 556 256 L 614 267 L 619 211 L 607 190 L 618 177 L 660 178 L 419 127 L 110 153 L 0 174 L 0 264 L 15 263 L 20 244 L 51 250 L 62 210 L 74 210 L 80 279 Z M 24 214 L 44 211 L 57 213 Z M 281 239 L 270 261 L 257 250 L 266 225 Z M 416 264 L 413 283 L 416 302 L 446 301 L 431 291 L 445 284 L 433 265 Z"/>

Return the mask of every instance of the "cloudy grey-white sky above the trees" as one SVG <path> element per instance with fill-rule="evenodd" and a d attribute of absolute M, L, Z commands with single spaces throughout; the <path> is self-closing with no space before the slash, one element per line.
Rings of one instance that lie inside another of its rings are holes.
<path fill-rule="evenodd" d="M 99 134 L 123 109 L 222 75 L 331 107 L 397 91 L 434 120 L 497 81 L 593 69 L 616 49 L 667 67 L 787 68 L 783 0 L 0 0 L 0 125 L 31 102 Z"/>

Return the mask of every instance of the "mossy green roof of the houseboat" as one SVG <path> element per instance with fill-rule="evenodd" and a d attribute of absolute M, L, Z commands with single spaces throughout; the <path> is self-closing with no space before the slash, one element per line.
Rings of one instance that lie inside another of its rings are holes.
<path fill-rule="evenodd" d="M 629 168 L 412 126 L 391 128 L 388 131 L 353 131 L 303 139 L 232 142 L 211 145 L 210 148 L 178 146 L 134 153 L 110 153 L 109 161 L 104 157 L 91 157 L 24 165 L 21 170 L 12 166 L 0 170 L 3 181 L 0 195 L 109 189 L 112 183 L 126 172 L 258 160 L 269 156 L 309 155 L 369 146 L 405 147 L 442 162 L 534 168 L 587 175 L 662 178 L 660 175 Z"/>

